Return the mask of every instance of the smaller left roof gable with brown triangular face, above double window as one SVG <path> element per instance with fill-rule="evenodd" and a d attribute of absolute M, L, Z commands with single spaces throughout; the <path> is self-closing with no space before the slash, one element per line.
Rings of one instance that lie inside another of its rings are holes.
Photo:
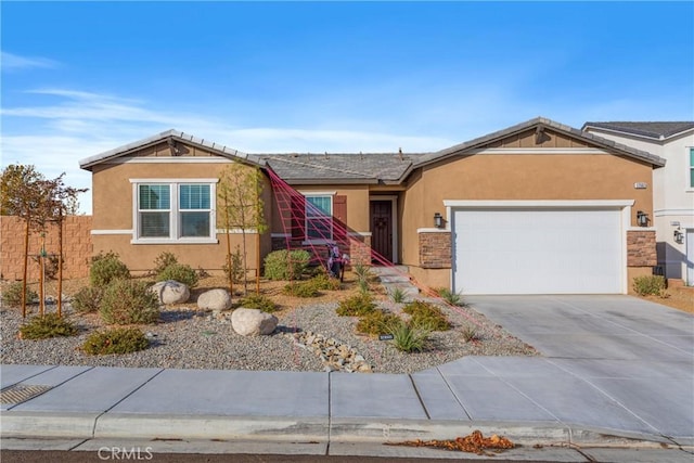
<path fill-rule="evenodd" d="M 86 170 L 91 170 L 92 167 L 102 163 L 134 156 L 192 157 L 196 154 L 195 149 L 201 149 L 206 153 L 229 159 L 241 160 L 246 164 L 260 164 L 255 156 L 171 129 L 157 133 L 156 136 L 147 137 L 94 156 L 80 159 L 79 167 Z"/>

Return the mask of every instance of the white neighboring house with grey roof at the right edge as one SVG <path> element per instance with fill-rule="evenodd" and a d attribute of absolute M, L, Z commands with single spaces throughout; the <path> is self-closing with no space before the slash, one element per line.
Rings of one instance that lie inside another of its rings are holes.
<path fill-rule="evenodd" d="M 694 121 L 586 123 L 582 130 L 667 160 L 653 176 L 658 266 L 670 283 L 694 286 Z"/>

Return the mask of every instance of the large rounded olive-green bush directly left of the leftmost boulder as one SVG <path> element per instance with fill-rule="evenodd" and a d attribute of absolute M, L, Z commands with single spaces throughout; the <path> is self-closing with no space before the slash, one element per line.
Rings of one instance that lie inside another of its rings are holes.
<path fill-rule="evenodd" d="M 106 323 L 153 323 L 159 318 L 156 294 L 134 280 L 115 280 L 104 291 L 101 317 Z"/>

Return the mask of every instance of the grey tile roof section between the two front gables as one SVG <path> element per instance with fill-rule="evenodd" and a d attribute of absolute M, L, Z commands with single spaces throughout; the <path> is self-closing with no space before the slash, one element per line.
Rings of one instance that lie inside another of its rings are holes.
<path fill-rule="evenodd" d="M 288 183 L 399 183 L 421 154 L 267 154 L 260 159 Z"/>

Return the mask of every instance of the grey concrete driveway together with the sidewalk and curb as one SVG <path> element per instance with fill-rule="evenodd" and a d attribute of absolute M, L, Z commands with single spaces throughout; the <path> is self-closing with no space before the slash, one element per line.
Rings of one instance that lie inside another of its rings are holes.
<path fill-rule="evenodd" d="M 1 406 L 3 446 L 51 437 L 67 447 L 265 439 L 334 448 L 474 429 L 526 448 L 694 446 L 691 316 L 628 296 L 468 299 L 543 357 L 467 357 L 412 375 L 5 364 L 3 397 L 15 399 Z M 44 391 L 21 400 L 31 387 Z"/>

